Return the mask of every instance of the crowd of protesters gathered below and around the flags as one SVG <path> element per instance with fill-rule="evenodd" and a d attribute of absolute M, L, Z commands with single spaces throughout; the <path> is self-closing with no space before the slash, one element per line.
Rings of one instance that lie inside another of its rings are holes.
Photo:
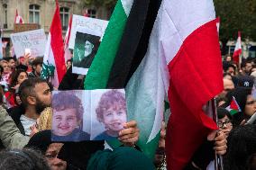
<path fill-rule="evenodd" d="M 72 74 L 70 63 L 71 60 L 67 62 L 68 71 L 58 90 L 84 88 L 85 77 Z M 61 117 L 64 109 L 72 110 L 75 115 L 73 120 L 76 121 L 74 124 L 78 127 L 81 123 L 78 121 L 81 116 L 80 102 L 76 103 L 74 96 L 71 103 L 70 100 L 65 103 L 62 96 L 64 92 L 52 96 L 51 92 L 56 89 L 50 82 L 41 79 L 41 67 L 42 58 L 31 58 L 29 55 L 18 59 L 2 58 L 0 61 L 0 170 L 167 168 L 164 122 L 154 161 L 146 157 L 136 145 L 140 136 L 136 121 L 128 121 L 123 125 L 123 130 L 114 132 L 121 143 L 118 148 L 111 148 L 99 137 L 77 142 L 67 142 L 63 138 L 52 141 L 51 130 L 58 130 L 58 127 L 52 127 L 52 104 L 58 105 L 58 115 L 55 116 Z M 209 133 L 187 164 L 187 170 L 214 169 L 215 152 L 223 156 L 224 169 L 256 169 L 256 126 L 251 121 L 256 112 L 256 61 L 247 58 L 238 67 L 231 57 L 226 57 L 223 67 L 224 91 L 216 98 L 219 131 Z M 68 95 L 72 98 L 72 94 Z M 101 99 L 103 104 L 96 109 L 98 121 L 107 121 L 102 117 L 102 107 L 108 107 L 110 100 L 107 94 Z M 237 106 L 236 111 L 233 103 Z M 118 104 L 124 112 L 126 108 L 123 103 Z M 107 130 L 111 130 L 111 127 Z M 105 137 L 109 132 L 107 130 L 100 137 Z M 87 138 L 87 134 L 83 137 Z"/>

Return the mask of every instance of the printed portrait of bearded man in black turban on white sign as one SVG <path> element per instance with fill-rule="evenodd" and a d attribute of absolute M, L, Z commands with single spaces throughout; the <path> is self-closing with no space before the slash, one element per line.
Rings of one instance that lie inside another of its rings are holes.
<path fill-rule="evenodd" d="M 100 44 L 101 32 L 78 26 L 73 50 L 72 72 L 87 75 Z"/>

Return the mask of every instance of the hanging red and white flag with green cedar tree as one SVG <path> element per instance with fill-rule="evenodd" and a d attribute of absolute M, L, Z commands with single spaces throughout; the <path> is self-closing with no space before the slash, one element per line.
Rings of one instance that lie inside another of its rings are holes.
<path fill-rule="evenodd" d="M 43 57 L 41 77 L 50 79 L 52 85 L 58 88 L 66 73 L 64 44 L 59 15 L 59 3 L 56 0 L 56 10 L 50 25 L 50 32 Z"/>

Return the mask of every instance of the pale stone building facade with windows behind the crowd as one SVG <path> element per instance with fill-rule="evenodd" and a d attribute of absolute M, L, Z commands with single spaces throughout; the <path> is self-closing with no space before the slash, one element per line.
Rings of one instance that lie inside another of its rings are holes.
<path fill-rule="evenodd" d="M 110 11 L 104 7 L 94 8 L 83 6 L 83 0 L 59 0 L 59 11 L 63 34 L 69 24 L 69 16 L 82 15 L 108 20 Z M 55 0 L 0 0 L 0 28 L 4 30 L 4 38 L 9 38 L 14 31 L 16 10 L 23 17 L 25 23 L 38 23 L 46 33 L 49 32 L 51 19 L 55 11 Z"/>

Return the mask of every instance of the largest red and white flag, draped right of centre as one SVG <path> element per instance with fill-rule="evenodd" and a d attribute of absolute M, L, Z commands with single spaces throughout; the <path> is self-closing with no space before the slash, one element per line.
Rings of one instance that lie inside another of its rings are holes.
<path fill-rule="evenodd" d="M 160 51 L 169 70 L 167 163 L 181 170 L 217 130 L 202 109 L 224 88 L 215 6 L 212 0 L 163 0 L 158 17 Z"/>

